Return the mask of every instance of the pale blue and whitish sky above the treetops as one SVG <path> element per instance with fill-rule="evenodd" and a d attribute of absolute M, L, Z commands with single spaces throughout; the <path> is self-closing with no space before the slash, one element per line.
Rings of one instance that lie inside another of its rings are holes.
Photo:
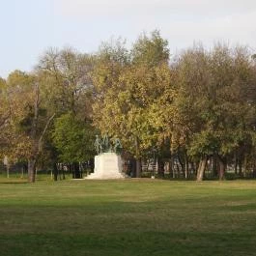
<path fill-rule="evenodd" d="M 200 42 L 256 52 L 255 0 L 0 0 L 0 76 L 32 71 L 48 47 L 96 52 L 158 29 L 171 53 Z"/>

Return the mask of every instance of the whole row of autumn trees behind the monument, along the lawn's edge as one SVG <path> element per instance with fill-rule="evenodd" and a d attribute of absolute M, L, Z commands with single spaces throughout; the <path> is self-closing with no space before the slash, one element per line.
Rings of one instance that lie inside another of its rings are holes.
<path fill-rule="evenodd" d="M 98 133 L 122 140 L 125 155 L 180 160 L 202 180 L 228 165 L 256 172 L 256 62 L 247 47 L 197 44 L 170 57 L 155 31 L 132 45 L 102 43 L 96 54 L 50 49 L 35 71 L 0 81 L 0 151 L 39 164 L 94 156 Z"/>

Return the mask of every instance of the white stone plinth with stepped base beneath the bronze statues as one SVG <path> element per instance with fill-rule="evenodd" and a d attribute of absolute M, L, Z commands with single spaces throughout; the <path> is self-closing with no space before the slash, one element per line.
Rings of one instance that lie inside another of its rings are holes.
<path fill-rule="evenodd" d="M 122 158 L 115 153 L 103 153 L 95 156 L 95 172 L 86 179 L 124 179 Z"/>

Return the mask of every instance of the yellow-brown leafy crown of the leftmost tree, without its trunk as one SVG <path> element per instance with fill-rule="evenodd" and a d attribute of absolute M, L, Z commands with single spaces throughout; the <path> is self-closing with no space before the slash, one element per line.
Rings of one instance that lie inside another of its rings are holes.
<path fill-rule="evenodd" d="M 1 151 L 9 158 L 27 157 L 32 154 L 31 128 L 35 106 L 35 75 L 23 71 L 10 73 L 2 91 L 4 100 Z M 1 118 L 0 118 L 1 119 Z M 40 125 L 37 124 L 37 128 Z"/>

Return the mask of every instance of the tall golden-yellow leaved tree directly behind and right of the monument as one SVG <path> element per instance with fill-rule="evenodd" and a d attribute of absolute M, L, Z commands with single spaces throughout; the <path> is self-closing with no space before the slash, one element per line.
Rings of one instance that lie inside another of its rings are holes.
<path fill-rule="evenodd" d="M 121 138 L 137 159 L 139 177 L 140 157 L 156 140 L 149 111 L 169 83 L 166 42 L 153 32 L 151 38 L 140 38 L 129 54 L 120 42 L 108 45 L 100 50 L 98 60 L 93 71 L 98 93 L 94 124 L 102 133 Z"/>

